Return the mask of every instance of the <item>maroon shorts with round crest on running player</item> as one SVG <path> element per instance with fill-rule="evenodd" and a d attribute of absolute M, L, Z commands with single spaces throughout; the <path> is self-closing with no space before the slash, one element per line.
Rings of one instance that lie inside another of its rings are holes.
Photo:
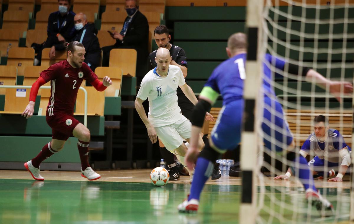
<path fill-rule="evenodd" d="M 52 116 L 46 116 L 47 124 L 52 128 L 52 138 L 66 141 L 73 135 L 73 130 L 80 122 L 73 116 L 56 112 Z"/>

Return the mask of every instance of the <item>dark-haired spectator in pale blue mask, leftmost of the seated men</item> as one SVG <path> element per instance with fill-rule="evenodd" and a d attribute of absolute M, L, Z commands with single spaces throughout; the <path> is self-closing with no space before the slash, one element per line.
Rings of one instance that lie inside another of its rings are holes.
<path fill-rule="evenodd" d="M 75 35 L 74 16 L 70 9 L 70 0 L 58 0 L 59 10 L 52 12 L 48 17 L 47 34 L 48 37 L 42 49 L 34 58 L 34 65 L 40 65 L 42 50 L 52 47 L 55 44 L 63 44 L 73 39 Z"/>

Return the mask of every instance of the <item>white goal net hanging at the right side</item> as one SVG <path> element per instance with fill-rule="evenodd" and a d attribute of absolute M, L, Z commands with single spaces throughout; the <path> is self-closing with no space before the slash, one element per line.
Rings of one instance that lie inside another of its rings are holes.
<path fill-rule="evenodd" d="M 262 15 L 262 54 L 271 54 L 284 58 L 294 65 L 309 67 L 331 80 L 347 80 L 352 82 L 354 68 L 354 2 L 349 0 L 266 0 Z M 329 128 L 336 129 L 343 136 L 348 146 L 352 146 L 352 96 L 339 96 L 340 101 L 332 96 L 329 86 L 325 89 L 314 83 L 305 82 L 302 69 L 298 74 L 290 74 L 285 65 L 285 72 L 268 63 L 273 79 L 267 80 L 274 88 L 276 100 L 281 103 L 289 123 L 293 140 L 299 153 L 304 141 L 314 132 L 313 119 L 324 115 L 329 119 Z M 280 75 L 278 75 L 280 74 Z M 267 79 L 267 78 L 265 78 Z M 312 81 L 312 80 L 307 80 Z M 260 94 L 272 98 L 267 91 Z M 343 177 L 343 183 L 329 182 L 329 167 L 325 159 L 323 179 L 315 179 L 315 186 L 322 196 L 327 198 L 334 207 L 334 215 L 324 217 L 323 213 L 313 208 L 305 199 L 302 184 L 291 176 L 290 180 L 273 180 L 276 175 L 286 173 L 288 165 L 293 165 L 286 158 L 286 127 L 275 127 L 275 120 L 263 118 L 263 108 L 268 108 L 273 118 L 281 116 L 275 105 L 269 107 L 264 101 L 258 100 L 258 123 L 268 122 L 270 127 L 283 134 L 283 139 L 276 138 L 274 131 L 265 133 L 262 128 L 257 130 L 259 139 L 272 143 L 268 149 L 259 141 L 259 155 L 264 155 L 263 173 L 257 176 L 257 223 L 302 223 L 318 222 L 333 223 L 349 220 L 350 215 L 350 181 L 349 170 Z M 272 119 L 273 119 L 272 118 Z M 272 126 L 273 125 L 273 126 Z M 284 143 L 282 143 L 284 142 Z M 276 152 L 275 148 L 284 149 Z M 328 157 L 326 150 L 324 157 Z M 309 151 L 307 161 L 311 161 L 315 152 Z M 262 160 L 263 161 L 263 160 Z M 280 163 L 281 161 L 282 163 Z M 339 158 L 339 166 L 341 158 Z M 261 167 L 260 166 L 260 167 Z M 260 168 L 258 167 L 258 168 Z M 313 166 L 312 166 L 313 167 Z M 295 166 L 295 172 L 299 166 Z M 338 173 L 338 167 L 333 168 Z M 258 169 L 257 169 L 258 170 Z M 266 176 L 270 175 L 270 177 Z M 334 176 L 335 177 L 335 176 Z"/>

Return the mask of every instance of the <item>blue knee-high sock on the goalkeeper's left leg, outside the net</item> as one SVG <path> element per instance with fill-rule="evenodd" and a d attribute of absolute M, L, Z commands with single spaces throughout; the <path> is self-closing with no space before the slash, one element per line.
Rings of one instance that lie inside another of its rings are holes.
<path fill-rule="evenodd" d="M 190 194 L 188 200 L 197 199 L 199 200 L 200 193 L 203 190 L 206 180 L 210 177 L 214 169 L 214 162 L 199 157 L 195 165 L 194 177 L 192 181 L 192 186 L 190 187 Z"/>

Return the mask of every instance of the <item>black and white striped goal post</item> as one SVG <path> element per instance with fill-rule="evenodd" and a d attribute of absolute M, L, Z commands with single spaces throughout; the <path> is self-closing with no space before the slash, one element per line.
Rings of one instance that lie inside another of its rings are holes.
<path fill-rule="evenodd" d="M 261 44 L 263 0 L 247 0 L 246 27 L 247 61 L 244 82 L 244 117 L 241 134 L 240 167 L 242 170 L 242 190 L 240 223 L 256 222 L 256 173 L 257 170 L 257 117 L 256 101 L 261 88 L 262 60 L 259 57 Z"/>

